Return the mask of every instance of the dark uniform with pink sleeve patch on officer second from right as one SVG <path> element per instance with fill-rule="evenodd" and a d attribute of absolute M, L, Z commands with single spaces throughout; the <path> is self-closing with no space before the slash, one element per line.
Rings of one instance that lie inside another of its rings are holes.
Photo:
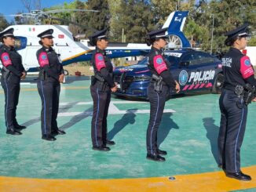
<path fill-rule="evenodd" d="M 154 84 L 156 80 L 152 78 L 148 86 L 148 99 L 150 102 L 150 118 L 147 130 L 147 152 L 148 154 L 158 154 L 157 131 L 163 115 L 163 109 L 166 102 L 166 96 L 170 89 L 175 89 L 176 82 L 170 74 L 170 63 L 163 56 L 162 50 L 152 47 L 148 55 L 148 67 L 152 74 L 163 78 L 163 88 L 155 91 Z"/>

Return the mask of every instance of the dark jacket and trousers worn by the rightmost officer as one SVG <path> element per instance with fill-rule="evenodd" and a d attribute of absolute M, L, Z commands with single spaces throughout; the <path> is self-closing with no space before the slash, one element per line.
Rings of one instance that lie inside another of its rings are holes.
<path fill-rule="evenodd" d="M 238 96 L 236 85 L 256 86 L 250 59 L 231 48 L 222 58 L 225 77 L 220 97 L 221 127 L 218 136 L 219 163 L 226 172 L 240 172 L 240 147 L 247 123 L 247 104 Z"/>

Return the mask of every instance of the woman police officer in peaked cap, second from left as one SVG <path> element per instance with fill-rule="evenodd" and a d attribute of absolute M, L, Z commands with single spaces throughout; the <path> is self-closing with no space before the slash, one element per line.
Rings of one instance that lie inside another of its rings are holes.
<path fill-rule="evenodd" d="M 41 38 L 36 56 L 39 63 L 38 92 L 42 100 L 41 129 L 42 139 L 56 140 L 54 136 L 64 135 L 58 129 L 57 114 L 59 110 L 60 83 L 64 81 L 64 69 L 60 56 L 53 50 L 53 29 L 38 34 Z"/>

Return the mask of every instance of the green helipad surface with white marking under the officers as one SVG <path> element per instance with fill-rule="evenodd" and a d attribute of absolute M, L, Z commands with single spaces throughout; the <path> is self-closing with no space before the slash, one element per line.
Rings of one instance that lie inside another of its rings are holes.
<path fill-rule="evenodd" d="M 168 155 L 163 163 L 146 160 L 149 103 L 112 96 L 108 137 L 116 145 L 103 153 L 92 150 L 90 81 L 61 85 L 60 129 L 54 142 L 41 139 L 41 100 L 36 85 L 22 85 L 17 120 L 27 125 L 21 136 L 5 134 L 4 94 L 0 89 L 0 176 L 45 179 L 121 179 L 187 175 L 219 171 L 217 138 L 219 95 L 177 96 L 166 102 L 159 143 Z M 128 112 L 126 111 L 128 110 Z M 256 162 L 256 104 L 251 104 L 241 150 L 242 166 Z M 254 191 L 254 190 L 248 190 Z"/>

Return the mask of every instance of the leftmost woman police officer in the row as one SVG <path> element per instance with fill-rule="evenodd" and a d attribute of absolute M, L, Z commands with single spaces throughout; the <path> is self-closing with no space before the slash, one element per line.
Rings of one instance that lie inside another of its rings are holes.
<path fill-rule="evenodd" d="M 20 129 L 25 126 L 19 125 L 16 121 L 16 106 L 19 103 L 20 79 L 27 75 L 22 65 L 22 58 L 14 49 L 15 38 L 13 28 L 0 33 L 3 45 L 0 47 L 0 59 L 2 61 L 1 85 L 5 92 L 5 125 L 6 133 L 21 135 Z"/>

